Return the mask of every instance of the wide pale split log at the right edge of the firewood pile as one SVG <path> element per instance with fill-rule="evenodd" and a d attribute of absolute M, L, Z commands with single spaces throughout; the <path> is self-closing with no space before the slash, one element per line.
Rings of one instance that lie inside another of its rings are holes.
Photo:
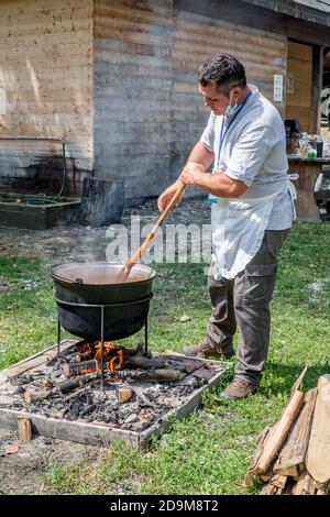
<path fill-rule="evenodd" d="M 309 446 L 306 454 L 306 468 L 315 481 L 330 481 L 330 375 L 322 375 L 318 382 L 314 419 Z"/>

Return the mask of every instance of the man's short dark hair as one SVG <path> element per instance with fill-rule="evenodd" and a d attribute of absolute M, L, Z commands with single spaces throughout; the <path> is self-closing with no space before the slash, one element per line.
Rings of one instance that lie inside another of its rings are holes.
<path fill-rule="evenodd" d="M 228 95 L 235 86 L 246 86 L 245 69 L 239 59 L 230 54 L 213 54 L 198 69 L 201 86 L 215 85 L 221 94 Z"/>

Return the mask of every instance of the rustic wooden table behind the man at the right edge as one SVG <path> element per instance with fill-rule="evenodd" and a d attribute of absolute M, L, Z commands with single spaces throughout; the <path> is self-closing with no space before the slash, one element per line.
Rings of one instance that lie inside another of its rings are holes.
<path fill-rule="evenodd" d="M 298 221 L 320 221 L 320 210 L 314 197 L 314 187 L 323 165 L 329 165 L 330 157 L 299 158 L 288 156 L 289 174 L 298 173 L 299 179 L 294 182 L 297 189 L 296 212 Z"/>

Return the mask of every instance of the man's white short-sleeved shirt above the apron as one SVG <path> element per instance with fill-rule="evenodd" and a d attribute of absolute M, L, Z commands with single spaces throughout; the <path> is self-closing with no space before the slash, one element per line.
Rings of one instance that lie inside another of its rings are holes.
<path fill-rule="evenodd" d="M 258 198 L 279 191 L 275 197 L 267 230 L 285 230 L 293 224 L 294 211 L 287 189 L 288 162 L 286 134 L 277 109 L 256 87 L 229 128 L 219 157 L 223 117 L 210 114 L 200 138 L 201 144 L 215 153 L 215 172 L 224 172 L 246 185 L 240 199 Z"/>

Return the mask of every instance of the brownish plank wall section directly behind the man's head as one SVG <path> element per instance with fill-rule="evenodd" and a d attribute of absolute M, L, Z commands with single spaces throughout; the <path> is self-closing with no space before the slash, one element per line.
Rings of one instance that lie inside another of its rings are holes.
<path fill-rule="evenodd" d="M 209 114 L 197 91 L 199 65 L 213 53 L 233 54 L 243 63 L 248 81 L 273 102 L 274 74 L 282 74 L 285 85 L 287 43 L 285 36 L 222 21 L 221 6 L 219 18 L 183 10 L 174 14 L 172 129 L 178 168 Z M 285 97 L 275 106 L 284 114 Z"/>

